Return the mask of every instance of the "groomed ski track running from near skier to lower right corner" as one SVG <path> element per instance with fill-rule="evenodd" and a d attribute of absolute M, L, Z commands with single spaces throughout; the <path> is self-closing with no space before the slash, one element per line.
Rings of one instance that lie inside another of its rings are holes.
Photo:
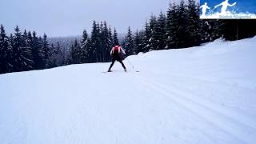
<path fill-rule="evenodd" d="M 132 77 L 134 77 L 134 75 Z M 148 78 L 138 76 L 136 78 L 140 79 L 142 84 L 149 86 L 151 89 L 157 90 L 159 94 L 162 94 L 162 96 L 170 99 L 170 101 L 179 103 L 179 105 L 184 107 L 186 110 L 198 115 L 198 117 L 206 119 L 206 121 L 211 122 L 214 126 L 221 128 L 226 133 L 230 132 L 231 135 L 239 138 L 241 142 L 242 139 L 246 138 L 248 135 L 250 136 L 256 134 L 254 121 L 252 121 L 250 118 L 246 118 L 245 115 L 235 114 L 235 112 L 232 110 L 216 110 L 214 108 L 217 108 L 218 106 L 212 105 L 211 102 L 194 102 L 194 100 L 191 99 L 195 97 L 194 95 L 188 94 L 181 90 L 168 88 L 162 83 L 156 82 L 155 79 L 153 81 L 149 81 Z M 231 116 L 228 114 L 231 114 Z M 234 115 L 238 117 L 234 117 Z M 246 141 L 252 143 L 254 142 L 254 138 L 246 139 Z"/>

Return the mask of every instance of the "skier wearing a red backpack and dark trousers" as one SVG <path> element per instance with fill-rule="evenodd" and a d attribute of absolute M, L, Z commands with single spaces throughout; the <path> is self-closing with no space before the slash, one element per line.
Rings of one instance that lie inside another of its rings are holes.
<path fill-rule="evenodd" d="M 126 52 L 124 50 L 122 50 L 122 47 L 119 46 L 118 43 L 116 43 L 115 46 L 110 51 L 110 55 L 112 56 L 112 63 L 110 65 L 108 72 L 111 72 L 111 68 L 114 65 L 115 61 L 120 62 L 122 64 L 122 68 L 126 71 L 126 66 L 122 63 L 122 58 L 121 58 L 122 55 L 121 54 L 126 54 Z"/>

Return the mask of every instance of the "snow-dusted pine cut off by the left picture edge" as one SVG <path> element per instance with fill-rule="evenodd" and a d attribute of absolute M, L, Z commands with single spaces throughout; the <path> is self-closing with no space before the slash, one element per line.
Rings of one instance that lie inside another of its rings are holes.
<path fill-rule="evenodd" d="M 12 72 L 12 48 L 4 27 L 0 26 L 0 74 Z"/>

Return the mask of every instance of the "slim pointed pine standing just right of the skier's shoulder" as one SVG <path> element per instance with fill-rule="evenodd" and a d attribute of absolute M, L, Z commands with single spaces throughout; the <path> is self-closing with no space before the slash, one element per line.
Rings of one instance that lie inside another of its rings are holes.
<path fill-rule="evenodd" d="M 128 33 L 126 35 L 124 49 L 126 51 L 127 56 L 134 54 L 134 38 L 133 38 L 133 34 L 130 30 L 130 26 L 128 27 Z"/>

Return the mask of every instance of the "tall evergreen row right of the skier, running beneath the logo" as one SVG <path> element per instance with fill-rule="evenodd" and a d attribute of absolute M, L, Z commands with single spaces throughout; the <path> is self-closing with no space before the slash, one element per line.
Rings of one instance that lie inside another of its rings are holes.
<path fill-rule="evenodd" d="M 216 38 L 238 40 L 256 35 L 256 20 L 202 20 L 194 0 L 170 4 L 166 14 L 151 15 L 144 30 L 128 28 L 122 42 L 128 54 L 199 46 Z"/>

